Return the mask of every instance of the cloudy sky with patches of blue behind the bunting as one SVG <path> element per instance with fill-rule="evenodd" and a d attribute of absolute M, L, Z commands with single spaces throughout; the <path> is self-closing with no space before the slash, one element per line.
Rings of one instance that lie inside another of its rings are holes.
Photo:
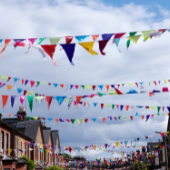
<path fill-rule="evenodd" d="M 8 46 L 0 58 L 0 75 L 16 77 L 20 79 L 35 80 L 41 82 L 51 82 L 64 85 L 107 85 L 107 84 L 122 84 L 125 86 L 119 87 L 123 93 L 127 93 L 130 89 L 135 89 L 140 92 L 140 86 L 135 82 L 144 82 L 143 87 L 147 91 L 146 94 L 136 95 L 121 95 L 86 98 L 82 101 L 90 103 L 90 106 L 78 108 L 71 105 L 67 108 L 66 102 L 61 106 L 56 100 L 53 100 L 48 110 L 45 100 L 41 103 L 34 101 L 33 112 L 29 110 L 27 101 L 24 106 L 28 116 L 41 116 L 51 118 L 94 118 L 107 116 L 127 116 L 126 120 L 115 121 L 102 120 L 96 122 L 89 121 L 79 125 L 76 121 L 73 125 L 70 123 L 59 123 L 55 121 L 46 122 L 47 126 L 51 126 L 53 130 L 59 130 L 61 146 L 84 147 L 90 144 L 103 145 L 105 143 L 114 144 L 117 141 L 125 141 L 138 137 L 154 135 L 155 131 L 165 132 L 167 130 L 167 116 L 154 116 L 147 122 L 141 117 L 135 117 L 134 121 L 130 120 L 131 115 L 138 113 L 139 115 L 157 114 L 157 109 L 129 109 L 126 112 L 120 109 L 112 110 L 111 104 L 119 105 L 149 105 L 149 106 L 169 106 L 169 93 L 160 93 L 149 97 L 149 92 L 153 89 L 162 90 L 163 87 L 169 86 L 169 39 L 170 33 L 165 32 L 160 37 L 153 37 L 146 42 L 143 42 L 141 36 L 138 44 L 131 42 L 129 49 L 126 48 L 126 41 L 129 31 L 146 31 L 169 28 L 168 1 L 162 4 L 159 1 L 1 1 L 1 39 L 27 39 L 41 37 L 64 37 L 76 35 L 96 35 L 104 33 L 120 33 L 126 32 L 125 38 L 122 38 L 117 50 L 115 44 L 111 41 L 105 48 L 106 55 L 100 54 L 98 43 L 94 44 L 94 51 L 98 55 L 90 55 L 80 45 L 76 44 L 75 54 L 73 58 L 74 66 L 72 66 L 64 50 L 57 45 L 54 54 L 54 60 L 58 67 L 53 65 L 50 57 L 44 61 L 42 55 L 34 48 L 28 50 L 27 47 Z M 89 36 L 86 41 L 92 41 Z M 26 41 L 27 42 L 27 41 Z M 74 39 L 73 42 L 76 42 Z M 28 43 L 28 42 L 27 42 Z M 36 42 L 38 43 L 38 42 Z M 46 39 L 43 43 L 50 43 Z M 62 38 L 60 43 L 65 43 Z M 3 44 L 3 43 L 2 43 Z M 1 49 L 3 46 L 1 46 Z M 153 81 L 161 80 L 160 85 L 155 86 Z M 166 80 L 166 84 L 164 83 Z M 149 86 L 148 82 L 152 82 Z M 132 83 L 132 86 L 128 86 Z M 104 87 L 101 91 L 96 88 L 95 92 L 90 89 L 72 90 L 62 89 L 60 86 L 40 85 L 32 87 L 30 85 L 22 86 L 21 81 L 16 83 L 10 80 L 9 85 L 12 85 L 11 90 L 6 90 L 6 86 L 1 88 L 1 95 L 17 95 L 13 109 L 11 109 L 10 100 L 4 109 L 1 107 L 3 117 L 12 116 L 17 113 L 21 103 L 19 101 L 17 88 L 33 91 L 51 96 L 79 96 L 90 95 L 96 92 L 106 93 Z M 93 103 L 110 104 L 109 108 L 104 106 L 100 108 L 100 104 L 94 108 Z M 0 97 L 0 103 L 2 103 Z M 160 113 L 168 113 L 165 109 Z M 137 145 L 146 145 L 147 142 L 158 141 L 160 137 L 149 138 L 148 140 L 141 139 Z M 161 138 L 160 138 L 161 139 Z M 118 148 L 122 151 L 122 148 Z M 125 149 L 124 151 L 131 151 Z M 110 154 L 101 151 L 84 151 L 72 152 L 74 155 L 83 155 L 87 157 L 119 157 L 118 154 Z"/>

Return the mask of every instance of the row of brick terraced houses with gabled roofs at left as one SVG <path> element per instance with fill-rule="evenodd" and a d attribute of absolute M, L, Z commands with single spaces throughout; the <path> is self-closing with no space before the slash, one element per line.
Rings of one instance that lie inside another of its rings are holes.
<path fill-rule="evenodd" d="M 40 118 L 27 118 L 24 107 L 20 107 L 17 118 L 2 118 L 0 114 L 0 169 L 26 170 L 26 156 L 35 161 L 36 169 L 58 162 L 60 147 L 58 130 L 46 127 Z"/>

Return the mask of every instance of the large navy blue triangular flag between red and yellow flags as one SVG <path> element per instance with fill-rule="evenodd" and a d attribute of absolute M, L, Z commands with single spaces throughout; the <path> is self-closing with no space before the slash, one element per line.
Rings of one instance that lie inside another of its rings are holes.
<path fill-rule="evenodd" d="M 72 59 L 73 59 L 74 51 L 75 51 L 75 44 L 60 44 L 60 45 L 63 47 L 70 63 L 74 65 Z"/>

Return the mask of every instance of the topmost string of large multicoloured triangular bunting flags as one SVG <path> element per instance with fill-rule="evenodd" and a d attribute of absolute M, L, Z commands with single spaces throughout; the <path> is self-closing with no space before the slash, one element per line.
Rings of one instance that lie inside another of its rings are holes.
<path fill-rule="evenodd" d="M 136 35 L 137 32 L 129 32 L 129 36 L 127 37 L 128 38 L 128 41 L 126 43 L 126 46 L 127 48 L 129 48 L 130 46 L 130 42 L 134 42 L 135 44 L 137 44 L 138 42 L 138 39 L 143 35 L 144 37 L 144 42 L 147 41 L 148 38 L 152 38 L 152 37 L 159 37 L 161 36 L 164 32 L 166 31 L 170 31 L 170 29 L 159 29 L 157 31 L 155 30 L 149 30 L 149 31 L 142 31 L 142 34 L 140 35 Z M 99 35 L 92 35 L 92 39 L 93 41 L 90 41 L 90 42 L 82 42 L 83 40 L 85 40 L 87 37 L 89 37 L 89 35 L 83 35 L 83 36 L 74 36 L 74 38 L 78 41 L 78 44 L 80 46 L 82 46 L 86 51 L 88 51 L 91 55 L 97 55 L 98 53 L 95 52 L 93 50 L 93 46 L 94 46 L 94 43 L 96 41 L 98 41 L 99 43 L 99 50 L 100 50 L 100 53 L 102 55 L 105 55 L 105 52 L 103 51 L 107 45 L 107 43 L 111 40 L 111 38 L 114 36 L 113 40 L 112 40 L 112 43 L 115 43 L 117 49 L 119 52 L 120 49 L 118 48 L 118 45 L 119 45 L 119 41 L 120 39 L 125 35 L 126 33 L 110 33 L 110 34 L 102 34 L 101 37 L 102 39 L 101 40 L 97 40 L 97 38 L 99 37 Z M 52 59 L 53 61 L 53 64 L 55 66 L 58 66 L 57 63 L 54 61 L 53 59 L 53 55 L 55 53 L 55 50 L 56 50 L 56 46 L 59 44 L 59 41 L 62 37 L 52 37 L 52 38 L 49 38 L 49 41 L 50 41 L 50 45 L 48 44 L 42 44 L 42 42 L 47 39 L 47 38 L 39 38 L 39 42 L 37 45 L 34 45 L 35 41 L 38 39 L 38 38 L 28 38 L 28 42 L 29 42 L 29 47 L 28 47 L 28 51 L 31 47 L 37 49 L 43 56 L 44 59 L 46 59 L 46 54 Z M 68 57 L 68 60 L 69 62 L 74 65 L 73 63 L 73 56 L 74 56 L 74 51 L 75 51 L 75 46 L 76 46 L 76 43 L 71 43 L 72 40 L 73 40 L 73 36 L 65 36 L 64 37 L 65 40 L 66 40 L 66 44 L 60 44 L 60 46 L 62 47 L 62 49 L 65 51 L 67 57 Z M 0 57 L 1 56 L 1 53 L 5 51 L 6 47 L 9 46 L 10 42 L 11 42 L 12 39 L 4 39 L 4 48 L 0 51 Z M 25 47 L 26 44 L 24 43 L 26 39 L 13 39 L 14 41 L 14 44 L 12 44 L 14 46 L 14 48 L 16 47 Z M 0 43 L 3 41 L 3 39 L 0 39 Z M 26 53 L 28 53 L 28 51 Z M 61 50 L 60 50 L 61 51 Z"/>

